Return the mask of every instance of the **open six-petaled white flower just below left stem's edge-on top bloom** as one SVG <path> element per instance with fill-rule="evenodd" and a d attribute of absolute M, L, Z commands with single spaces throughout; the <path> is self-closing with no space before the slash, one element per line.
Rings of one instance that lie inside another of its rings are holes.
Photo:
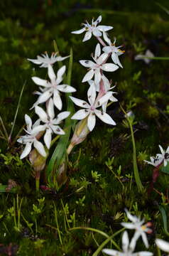
<path fill-rule="evenodd" d="M 40 103 L 46 102 L 50 97 L 53 96 L 53 102 L 55 107 L 57 107 L 58 110 L 62 109 L 62 100 L 60 97 L 60 92 L 76 91 L 75 88 L 70 85 L 59 85 L 60 82 L 62 82 L 65 69 L 66 69 L 65 65 L 62 66 L 62 68 L 58 70 L 57 77 L 56 77 L 53 67 L 51 65 L 48 65 L 48 76 L 50 78 L 50 82 L 48 82 L 48 80 L 44 80 L 37 77 L 32 78 L 33 82 L 35 82 L 36 85 L 45 87 L 45 90 L 43 90 L 42 92 L 38 92 L 40 96 L 38 97 L 38 100 L 33 105 L 33 107 L 35 107 Z"/>

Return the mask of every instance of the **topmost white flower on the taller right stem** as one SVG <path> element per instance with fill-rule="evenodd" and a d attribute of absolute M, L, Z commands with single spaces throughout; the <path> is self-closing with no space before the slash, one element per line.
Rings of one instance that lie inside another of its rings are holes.
<path fill-rule="evenodd" d="M 102 16 L 99 16 L 96 21 L 94 21 L 92 19 L 92 25 L 90 25 L 88 22 L 82 23 L 84 28 L 81 28 L 78 31 L 72 31 L 71 33 L 80 34 L 85 31 L 86 33 L 83 38 L 83 42 L 89 40 L 92 37 L 92 34 L 93 34 L 93 36 L 96 36 L 96 37 L 102 36 L 103 31 L 109 31 L 113 27 L 112 26 L 97 26 L 98 23 L 100 23 L 101 21 L 102 21 Z"/>

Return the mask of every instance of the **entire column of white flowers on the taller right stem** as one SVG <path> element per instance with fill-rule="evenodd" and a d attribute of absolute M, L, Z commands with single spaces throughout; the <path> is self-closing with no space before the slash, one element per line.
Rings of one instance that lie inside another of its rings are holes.
<path fill-rule="evenodd" d="M 119 67 L 122 68 L 119 55 L 124 53 L 124 51 L 119 49 L 120 46 L 115 46 L 116 40 L 114 43 L 111 43 L 107 35 L 107 31 L 113 27 L 98 25 L 101 21 L 102 16 L 99 16 L 96 21 L 92 20 L 91 25 L 88 22 L 83 23 L 84 28 L 78 31 L 72 31 L 72 33 L 76 34 L 85 31 L 83 42 L 89 40 L 92 35 L 99 41 L 94 50 L 94 54 L 92 54 L 92 60 L 80 60 L 80 64 L 88 69 L 82 82 L 89 83 L 89 90 L 87 91 L 89 103 L 75 97 L 70 97 L 75 105 L 82 107 L 82 110 L 78 110 L 71 118 L 78 120 L 86 119 L 87 128 L 90 132 L 92 132 L 96 124 L 96 116 L 107 124 L 116 125 L 114 119 L 106 113 L 108 101 L 117 101 L 116 97 L 114 97 L 114 93 L 116 92 L 111 91 L 111 82 L 104 75 L 104 72 L 114 72 Z M 103 38 L 101 38 L 101 36 L 103 36 Z M 114 63 L 107 63 L 110 56 Z M 98 107 L 101 107 L 101 110 L 98 110 Z"/>

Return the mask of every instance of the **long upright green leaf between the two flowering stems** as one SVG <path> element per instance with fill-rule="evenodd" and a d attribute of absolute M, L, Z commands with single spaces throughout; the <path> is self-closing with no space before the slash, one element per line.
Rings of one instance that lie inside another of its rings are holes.
<path fill-rule="evenodd" d="M 70 85 L 71 81 L 71 75 L 72 75 L 72 48 L 70 49 L 70 62 L 69 62 L 69 68 L 67 72 L 67 77 L 64 79 L 64 83 L 67 83 L 67 85 Z M 74 105 L 72 100 L 70 100 L 71 93 L 66 93 L 66 101 L 67 101 L 67 111 L 70 111 L 70 113 L 74 112 Z M 71 128 L 74 126 L 75 122 L 70 119 L 70 117 L 67 117 L 65 120 L 65 135 L 62 135 L 60 137 L 60 140 L 58 142 L 58 145 L 55 147 L 55 151 L 53 152 L 53 155 L 49 161 L 48 169 L 47 169 L 47 176 L 48 176 L 48 182 L 53 182 L 53 170 L 57 170 L 60 164 L 62 164 L 63 161 L 66 161 L 67 157 L 67 144 L 69 142 L 70 137 L 70 131 Z M 58 171 L 56 172 L 55 177 L 57 177 Z"/>

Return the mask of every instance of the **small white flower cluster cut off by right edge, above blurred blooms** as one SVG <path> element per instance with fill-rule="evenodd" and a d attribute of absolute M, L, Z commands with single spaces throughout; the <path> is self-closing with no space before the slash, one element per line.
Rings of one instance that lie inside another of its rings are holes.
<path fill-rule="evenodd" d="M 156 156 L 151 156 L 151 161 L 146 161 L 146 163 L 151 164 L 153 166 L 160 166 L 160 164 L 164 164 L 164 166 L 167 166 L 169 161 L 169 146 L 167 150 L 165 151 L 162 146 L 159 145 L 161 154 L 156 154 Z"/>

